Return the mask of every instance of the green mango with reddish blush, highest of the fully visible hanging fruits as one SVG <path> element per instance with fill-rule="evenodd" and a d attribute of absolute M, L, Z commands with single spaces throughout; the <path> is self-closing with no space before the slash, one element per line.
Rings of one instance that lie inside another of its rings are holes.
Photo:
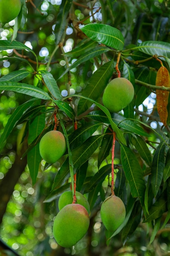
<path fill-rule="evenodd" d="M 124 77 L 117 77 L 106 86 L 103 93 L 103 105 L 110 112 L 119 112 L 130 104 L 133 97 L 132 83 Z"/>

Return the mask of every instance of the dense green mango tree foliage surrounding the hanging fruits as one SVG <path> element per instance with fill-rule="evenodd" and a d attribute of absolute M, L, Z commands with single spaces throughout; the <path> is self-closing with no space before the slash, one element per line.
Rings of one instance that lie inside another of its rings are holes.
<path fill-rule="evenodd" d="M 163 124 L 156 92 L 169 95 L 170 87 L 167 77 L 159 85 L 156 78 L 161 67 L 170 72 L 170 3 L 21 3 L 19 16 L 0 34 L 1 238 L 26 256 L 55 250 L 168 255 L 170 97 Z M 135 96 L 124 110 L 111 113 L 102 94 L 117 76 L 132 83 Z M 53 129 L 64 134 L 67 150 L 50 165 L 40 156 L 39 142 Z M 111 193 L 113 171 L 126 218 L 110 234 L 99 210 Z M 58 199 L 74 188 L 75 177 L 76 190 L 90 204 L 91 225 L 74 248 L 64 250 L 55 243 L 52 225 Z"/>

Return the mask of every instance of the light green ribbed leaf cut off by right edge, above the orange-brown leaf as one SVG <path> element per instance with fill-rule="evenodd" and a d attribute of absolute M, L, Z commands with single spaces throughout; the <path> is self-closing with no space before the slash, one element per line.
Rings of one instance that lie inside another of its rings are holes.
<path fill-rule="evenodd" d="M 145 41 L 139 44 L 137 47 L 139 51 L 144 52 L 148 55 L 159 55 L 170 58 L 170 43 L 161 41 Z M 165 58 L 163 58 L 166 61 Z"/>

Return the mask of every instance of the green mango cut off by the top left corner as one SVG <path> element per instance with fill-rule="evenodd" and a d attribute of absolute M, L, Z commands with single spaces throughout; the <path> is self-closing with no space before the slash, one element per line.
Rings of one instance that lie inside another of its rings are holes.
<path fill-rule="evenodd" d="M 20 13 L 20 0 L 0 0 L 0 22 L 6 24 Z"/>

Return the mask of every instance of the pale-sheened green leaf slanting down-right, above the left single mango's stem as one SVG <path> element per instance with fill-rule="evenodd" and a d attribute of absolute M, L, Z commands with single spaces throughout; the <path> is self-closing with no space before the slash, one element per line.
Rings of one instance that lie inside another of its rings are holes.
<path fill-rule="evenodd" d="M 62 99 L 62 95 L 60 93 L 60 89 L 53 78 L 53 75 L 46 71 L 46 70 L 40 70 L 40 73 L 42 74 L 42 78 L 46 84 L 47 89 L 49 90 L 51 96 L 54 99 Z"/>

